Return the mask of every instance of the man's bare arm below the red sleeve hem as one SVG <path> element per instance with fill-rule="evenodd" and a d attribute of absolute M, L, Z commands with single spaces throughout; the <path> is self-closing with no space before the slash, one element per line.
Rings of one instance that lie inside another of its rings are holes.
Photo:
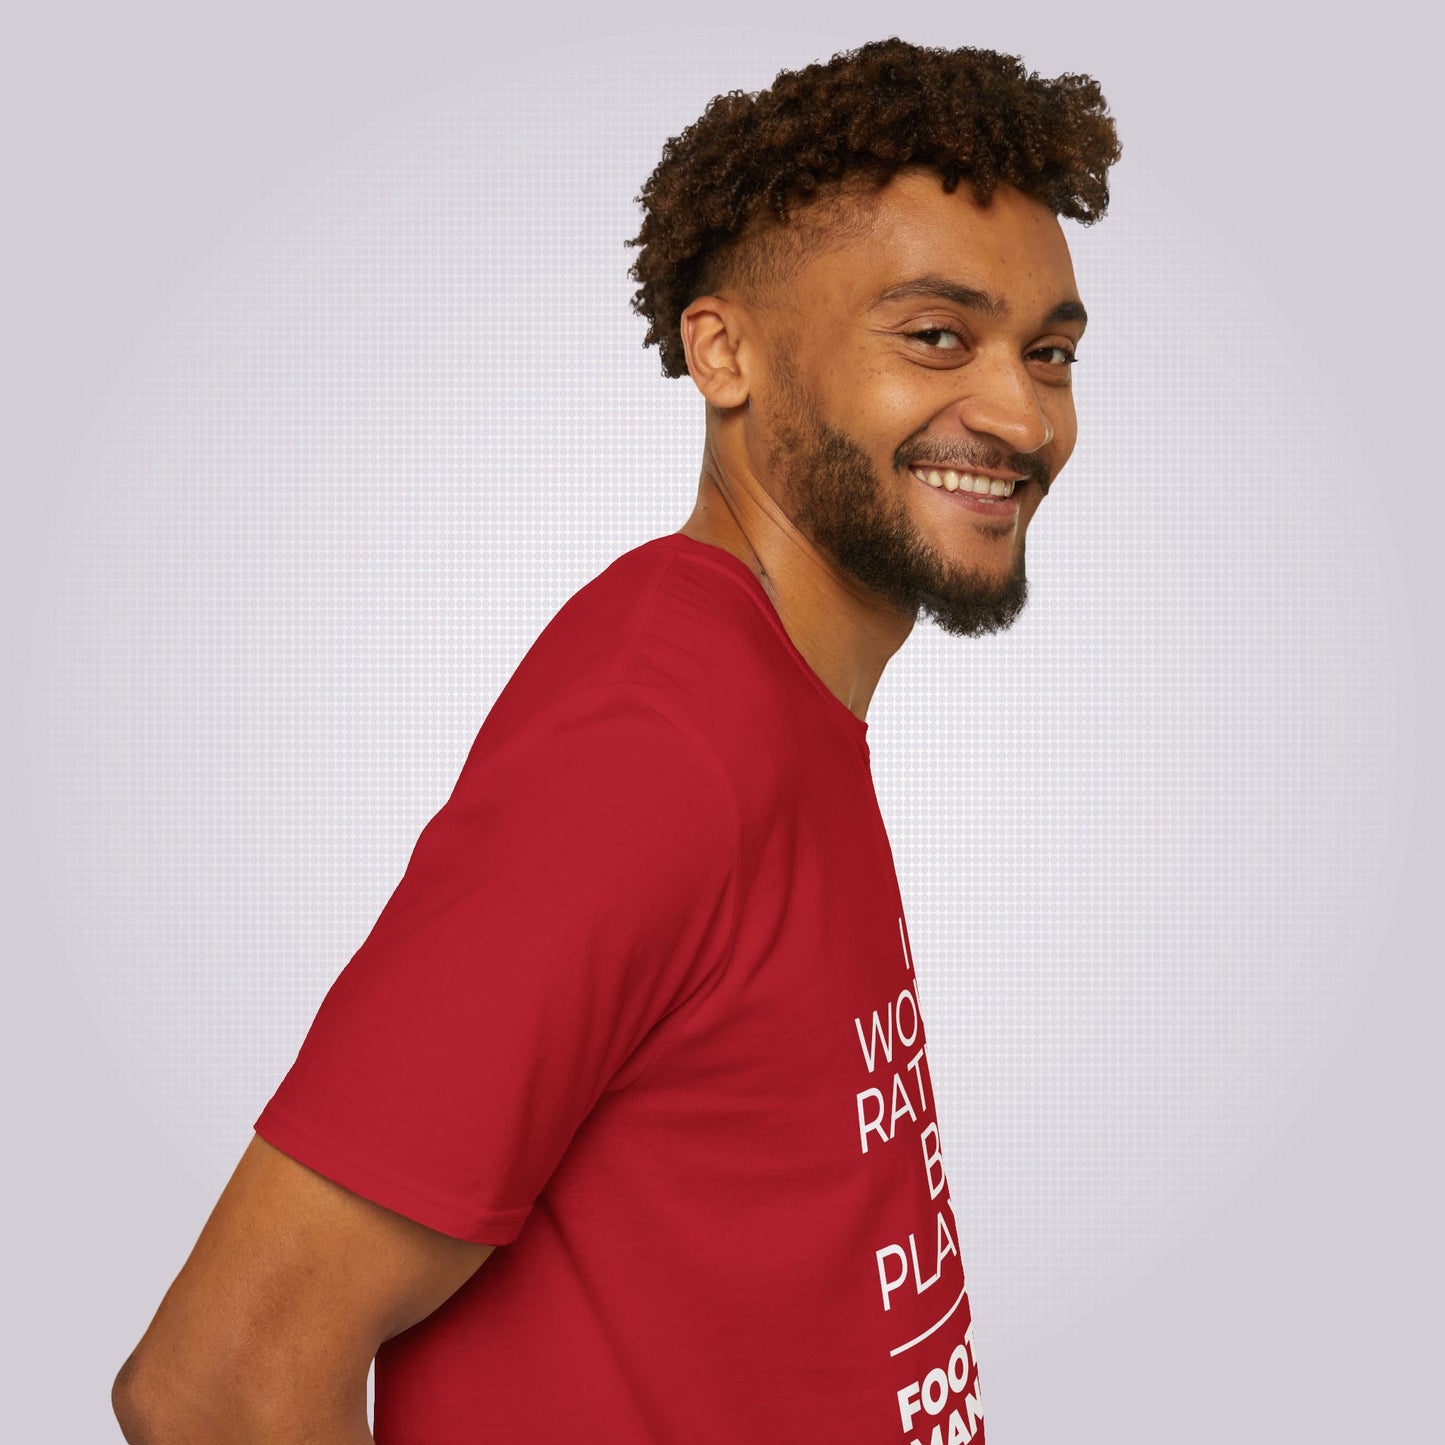
<path fill-rule="evenodd" d="M 223 1409 L 230 1422 L 253 1402 L 331 1419 L 360 1409 L 364 1425 L 377 1348 L 493 1248 L 384 1209 L 256 1134 L 126 1361 L 117 1399 L 214 1428 Z"/>

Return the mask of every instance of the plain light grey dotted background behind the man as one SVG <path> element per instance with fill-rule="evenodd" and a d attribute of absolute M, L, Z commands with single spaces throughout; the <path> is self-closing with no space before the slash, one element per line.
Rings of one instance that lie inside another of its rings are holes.
<path fill-rule="evenodd" d="M 493 698 L 686 517 L 663 142 L 890 33 L 1091 74 L 1124 144 L 1032 601 L 870 714 L 990 1439 L 1445 1438 L 1435 7 L 4 29 L 7 1442 L 120 1438 Z"/>

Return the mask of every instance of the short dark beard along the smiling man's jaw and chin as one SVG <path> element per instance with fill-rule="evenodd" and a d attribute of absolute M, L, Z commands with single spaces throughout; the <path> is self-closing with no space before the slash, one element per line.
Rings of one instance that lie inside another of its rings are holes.
<path fill-rule="evenodd" d="M 1012 626 L 1029 598 L 1023 538 L 1003 579 L 949 562 L 915 526 L 903 499 L 890 496 L 868 454 L 824 422 L 786 358 L 779 358 L 777 387 L 769 471 L 786 488 L 793 525 L 844 572 L 915 621 L 928 616 L 959 637 Z"/>

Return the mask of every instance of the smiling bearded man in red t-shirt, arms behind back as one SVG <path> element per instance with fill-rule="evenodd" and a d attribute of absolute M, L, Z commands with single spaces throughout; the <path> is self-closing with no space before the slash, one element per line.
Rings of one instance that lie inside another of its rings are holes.
<path fill-rule="evenodd" d="M 707 403 L 696 504 L 497 699 L 127 1439 L 367 1441 L 374 1357 L 383 1445 L 984 1441 L 866 712 L 920 613 L 1025 603 L 1075 441 L 1058 217 L 1118 153 L 1088 78 L 897 39 L 669 142 L 634 305 Z"/>

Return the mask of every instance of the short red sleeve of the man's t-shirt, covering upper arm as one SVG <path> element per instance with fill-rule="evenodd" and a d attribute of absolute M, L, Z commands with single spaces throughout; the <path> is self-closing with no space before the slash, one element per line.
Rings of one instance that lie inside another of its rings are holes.
<path fill-rule="evenodd" d="M 445 1234 L 516 1238 L 594 1104 L 730 944 L 731 789 L 652 691 L 601 683 L 496 743 L 483 728 L 263 1139 Z"/>

